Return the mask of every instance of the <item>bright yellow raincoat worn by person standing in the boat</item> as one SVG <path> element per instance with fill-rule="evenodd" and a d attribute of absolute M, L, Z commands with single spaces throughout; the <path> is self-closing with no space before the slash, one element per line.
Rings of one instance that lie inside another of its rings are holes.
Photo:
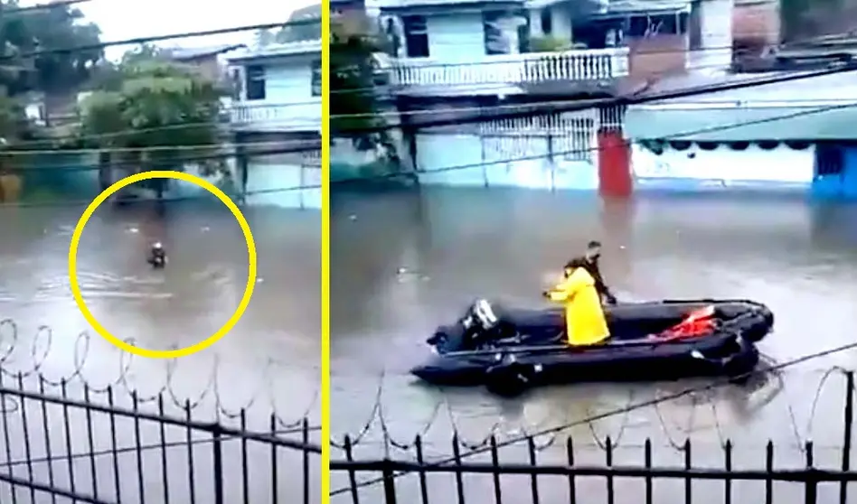
<path fill-rule="evenodd" d="M 565 303 L 566 334 L 570 345 L 594 345 L 610 337 L 595 279 L 586 269 L 575 268 L 548 294 L 551 301 Z"/>

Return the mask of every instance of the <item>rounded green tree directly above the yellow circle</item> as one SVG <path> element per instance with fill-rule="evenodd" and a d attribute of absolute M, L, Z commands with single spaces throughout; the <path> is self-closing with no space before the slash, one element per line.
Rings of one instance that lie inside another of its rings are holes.
<path fill-rule="evenodd" d="M 221 154 L 221 97 L 227 90 L 193 67 L 160 60 L 150 48 L 126 56 L 118 79 L 80 107 L 80 133 L 102 149 L 102 164 L 138 173 L 183 170 L 189 158 L 202 158 L 193 161 L 202 173 L 225 173 L 225 162 L 211 156 Z M 166 181 L 152 182 L 149 187 L 162 197 Z"/>

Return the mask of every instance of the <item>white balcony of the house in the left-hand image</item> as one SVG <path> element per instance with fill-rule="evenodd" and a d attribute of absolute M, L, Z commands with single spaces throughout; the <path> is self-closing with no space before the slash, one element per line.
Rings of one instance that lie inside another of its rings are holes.
<path fill-rule="evenodd" d="M 257 132 L 319 131 L 321 97 L 300 102 L 236 101 L 230 110 L 234 129 Z"/>

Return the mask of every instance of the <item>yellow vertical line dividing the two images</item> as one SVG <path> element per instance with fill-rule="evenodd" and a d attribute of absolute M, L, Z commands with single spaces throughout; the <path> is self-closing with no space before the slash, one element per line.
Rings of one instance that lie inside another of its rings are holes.
<path fill-rule="evenodd" d="M 321 489 L 330 502 L 330 0 L 322 0 Z"/>

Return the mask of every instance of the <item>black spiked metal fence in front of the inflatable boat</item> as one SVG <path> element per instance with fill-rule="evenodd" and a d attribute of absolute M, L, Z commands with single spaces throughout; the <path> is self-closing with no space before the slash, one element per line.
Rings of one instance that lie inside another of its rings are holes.
<path fill-rule="evenodd" d="M 527 458 L 523 463 L 501 462 L 500 448 L 507 443 L 499 443 L 494 437 L 484 449 L 469 452 L 463 452 L 461 443 L 453 439 L 451 456 L 429 460 L 419 436 L 410 460 L 390 457 L 358 460 L 346 438 L 344 458 L 330 464 L 332 479 L 341 485 L 334 484 L 331 502 L 845 504 L 857 501 L 857 496 L 849 495 L 848 487 L 849 482 L 857 481 L 857 471 L 852 471 L 851 463 L 854 377 L 852 372 L 845 375 L 843 441 L 835 448 L 834 456 L 825 456 L 824 461 L 818 460 L 822 450 L 812 442 L 797 447 L 802 460 L 783 462 L 775 460 L 772 442 L 767 443 L 762 458 L 746 453 L 738 455 L 733 443 L 726 441 L 715 447 L 720 453 L 717 466 L 712 463 L 710 451 L 703 462 L 705 467 L 701 467 L 693 459 L 702 450 L 688 440 L 680 450 L 681 462 L 659 465 L 654 462 L 653 444 L 647 440 L 641 447 L 642 453 L 634 453 L 630 462 L 620 462 L 616 446 L 608 438 L 604 458 L 589 462 L 580 460 L 568 438 L 562 450 L 554 450 L 553 460 L 545 462 L 539 460 L 547 457 L 544 452 L 540 457 L 533 437 L 522 442 L 522 452 Z M 784 465 L 792 467 L 777 468 Z"/>

